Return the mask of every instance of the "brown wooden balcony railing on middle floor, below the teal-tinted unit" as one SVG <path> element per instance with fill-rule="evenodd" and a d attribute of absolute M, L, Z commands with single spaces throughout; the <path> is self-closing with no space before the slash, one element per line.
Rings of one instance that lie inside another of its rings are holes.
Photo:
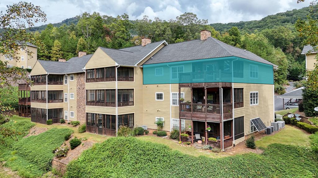
<path fill-rule="evenodd" d="M 222 122 L 220 105 L 180 103 L 180 118 Z M 232 118 L 232 103 L 223 104 L 223 119 Z"/>

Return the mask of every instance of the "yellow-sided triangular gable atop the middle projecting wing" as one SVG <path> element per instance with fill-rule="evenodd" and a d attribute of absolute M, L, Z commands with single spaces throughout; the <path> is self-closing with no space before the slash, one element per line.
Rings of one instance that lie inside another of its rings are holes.
<path fill-rule="evenodd" d="M 85 65 L 85 69 L 116 66 L 115 61 L 109 57 L 101 48 L 97 48 L 92 57 Z"/>

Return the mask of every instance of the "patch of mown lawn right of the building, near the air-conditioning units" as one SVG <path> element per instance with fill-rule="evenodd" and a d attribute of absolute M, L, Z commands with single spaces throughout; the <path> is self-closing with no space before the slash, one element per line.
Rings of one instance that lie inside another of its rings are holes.
<path fill-rule="evenodd" d="M 257 140 L 256 146 L 267 147 L 272 143 L 282 143 L 297 146 L 309 146 L 309 134 L 290 126 L 285 125 L 285 129 L 280 130 L 275 135 L 268 135 Z"/>

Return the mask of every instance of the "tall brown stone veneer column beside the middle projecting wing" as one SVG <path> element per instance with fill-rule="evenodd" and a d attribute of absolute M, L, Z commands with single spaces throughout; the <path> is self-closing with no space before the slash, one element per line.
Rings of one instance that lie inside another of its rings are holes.
<path fill-rule="evenodd" d="M 78 73 L 76 78 L 76 95 L 77 95 L 77 120 L 84 124 L 86 122 L 86 111 L 85 111 L 85 73 Z"/>

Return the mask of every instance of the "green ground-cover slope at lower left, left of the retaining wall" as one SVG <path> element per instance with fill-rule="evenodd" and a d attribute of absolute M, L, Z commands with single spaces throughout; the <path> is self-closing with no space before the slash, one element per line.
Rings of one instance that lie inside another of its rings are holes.
<path fill-rule="evenodd" d="M 30 122 L 30 121 L 29 121 Z M 50 129 L 36 136 L 20 139 L 12 145 L 5 166 L 22 177 L 38 177 L 51 169 L 53 150 L 61 146 L 70 129 Z"/>

